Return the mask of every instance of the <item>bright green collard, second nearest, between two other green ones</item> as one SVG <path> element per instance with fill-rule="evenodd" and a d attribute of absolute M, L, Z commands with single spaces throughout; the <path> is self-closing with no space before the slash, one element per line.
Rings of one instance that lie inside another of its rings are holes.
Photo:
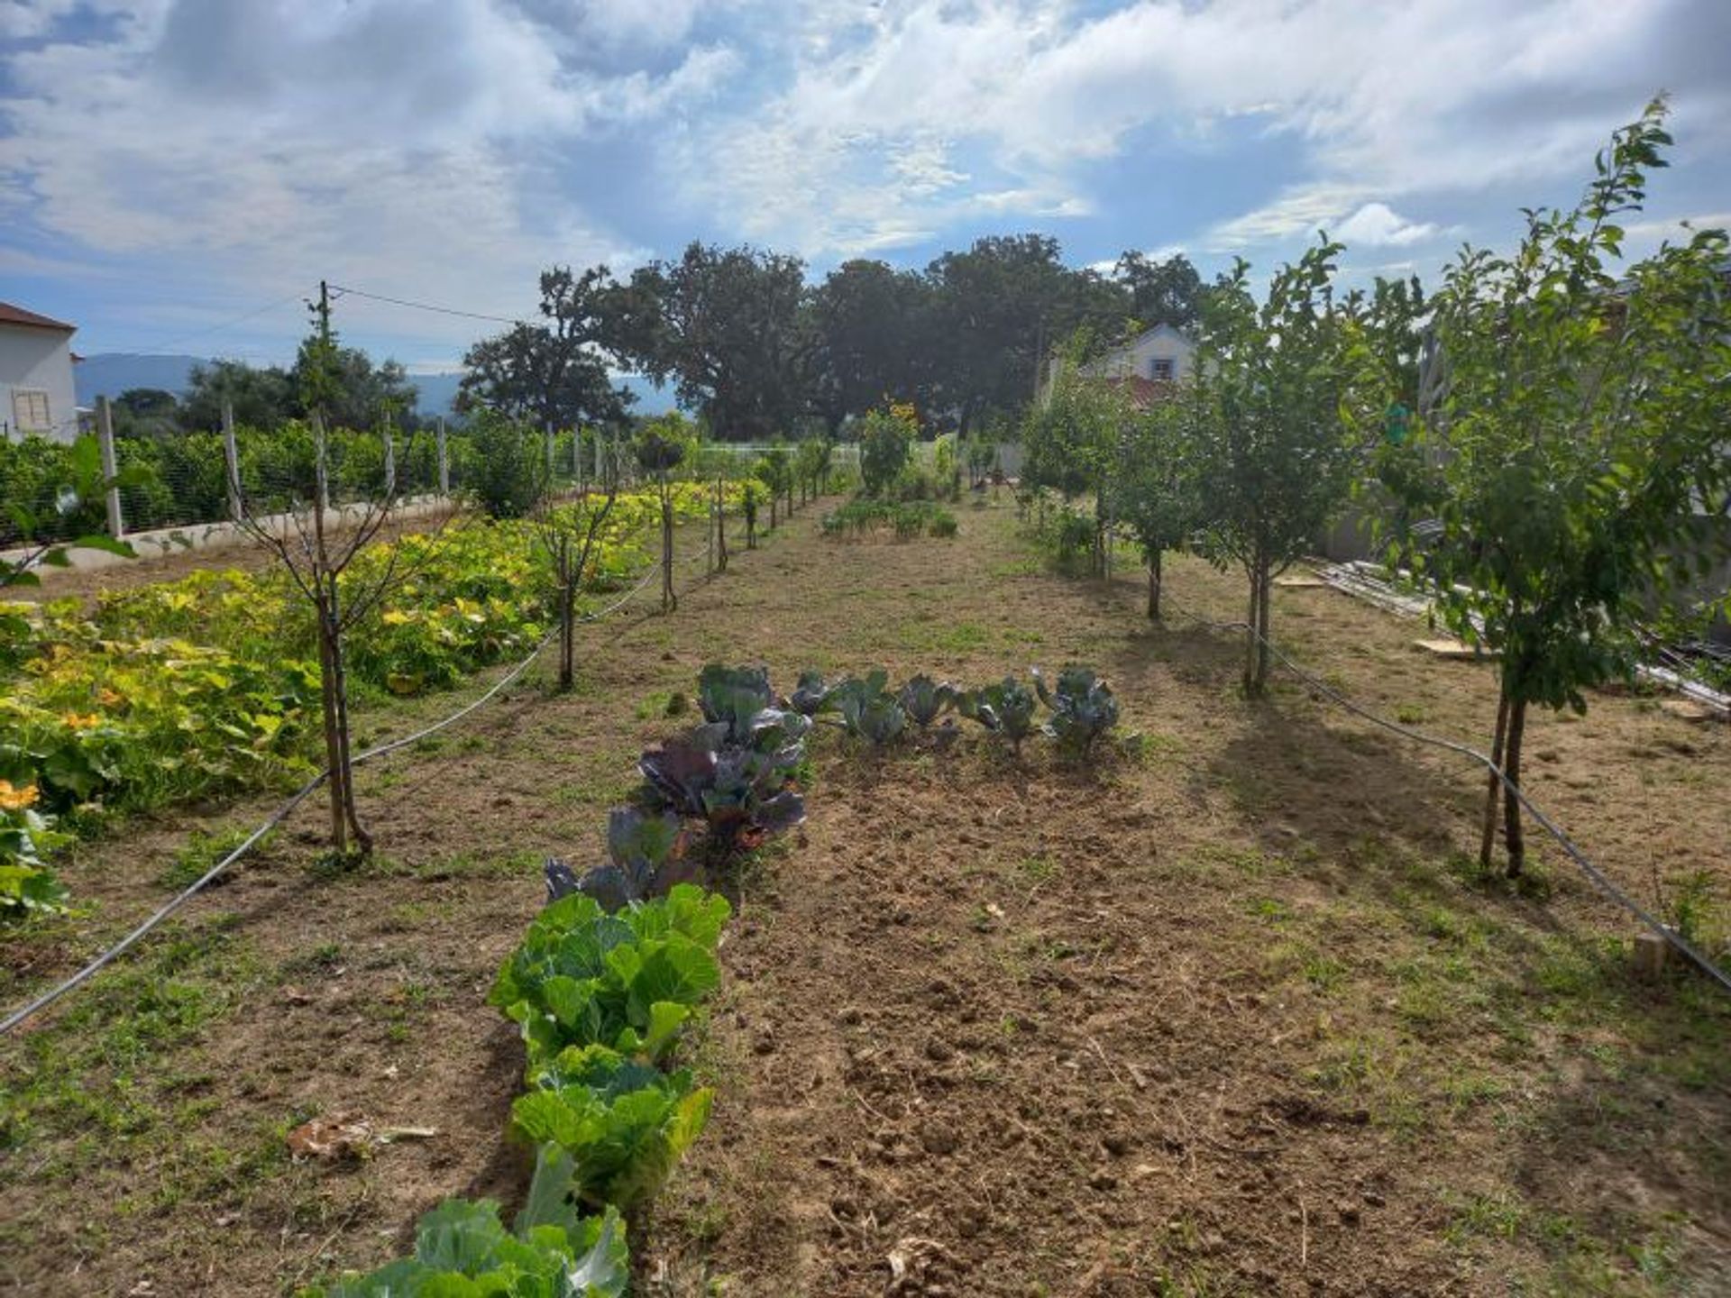
<path fill-rule="evenodd" d="M 576 1165 L 575 1194 L 630 1211 L 658 1189 L 710 1120 L 715 1092 L 604 1045 L 571 1047 L 511 1106 L 512 1128 Z"/>

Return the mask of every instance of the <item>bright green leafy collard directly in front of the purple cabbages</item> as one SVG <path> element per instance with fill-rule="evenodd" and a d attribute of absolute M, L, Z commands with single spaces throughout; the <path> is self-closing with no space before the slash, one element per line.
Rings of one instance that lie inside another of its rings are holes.
<path fill-rule="evenodd" d="M 573 893 L 550 903 L 493 981 L 488 1002 L 519 1025 L 533 1076 L 571 1045 L 654 1061 L 720 981 L 727 898 L 677 884 L 609 916 Z"/>

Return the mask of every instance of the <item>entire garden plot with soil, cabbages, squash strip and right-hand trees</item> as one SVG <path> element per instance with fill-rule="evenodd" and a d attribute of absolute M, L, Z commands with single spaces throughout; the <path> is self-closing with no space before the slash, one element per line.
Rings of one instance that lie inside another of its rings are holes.
<path fill-rule="evenodd" d="M 1530 256 L 1463 260 L 1435 306 L 1458 369 L 1411 424 L 1387 398 L 1414 303 L 1338 301 L 1324 242 L 1262 303 L 1243 268 L 1217 286 L 1207 363 L 1170 400 L 1087 384 L 1077 339 L 1014 507 L 978 445 L 916 457 L 905 407 L 864 421 L 860 498 L 820 521 L 795 497 L 822 495 L 822 445 L 682 485 L 698 452 L 670 422 L 639 441 L 649 490 L 604 511 L 329 569 L 320 599 L 367 606 L 358 723 L 415 736 L 353 772 L 374 834 L 329 851 L 291 808 L 5 1038 L 0 1282 L 1724 1288 L 1731 999 L 1681 961 L 1638 971 L 1629 916 L 1523 843 L 1513 798 L 1492 867 L 1483 815 L 1522 775 L 1667 940 L 1731 948 L 1724 729 L 1584 694 L 1663 587 L 1658 469 L 1724 488 L 1693 370 L 1608 405 L 1608 370 L 1570 377 L 1606 358 L 1610 218 L 1663 142 L 1655 109 L 1580 211 L 1532 216 Z M 1612 355 L 1722 357 L 1686 327 L 1722 247 L 1638 273 Z M 1554 332 L 1483 350 L 1511 318 Z M 1518 453 L 1492 351 L 1551 381 L 1522 395 Z M 1461 453 L 1430 455 L 1449 436 Z M 1419 658 L 1381 613 L 1276 585 L 1354 481 L 1400 502 L 1390 542 L 1501 661 Z M 1606 502 L 1643 521 L 1618 531 Z M 755 550 L 732 566 L 717 504 Z M 708 580 L 668 564 L 663 616 L 573 616 L 635 590 L 679 517 L 708 521 L 687 554 Z M 1565 535 L 1629 573 L 1589 580 Z M 855 543 L 874 537 L 904 543 Z M 0 846 L 28 914 L 0 985 L 21 1000 L 263 820 L 312 765 L 332 659 L 270 575 L 3 616 Z M 417 729 L 554 621 L 563 670 Z M 1487 796 L 1414 727 L 1496 730 L 1506 779 Z"/>

